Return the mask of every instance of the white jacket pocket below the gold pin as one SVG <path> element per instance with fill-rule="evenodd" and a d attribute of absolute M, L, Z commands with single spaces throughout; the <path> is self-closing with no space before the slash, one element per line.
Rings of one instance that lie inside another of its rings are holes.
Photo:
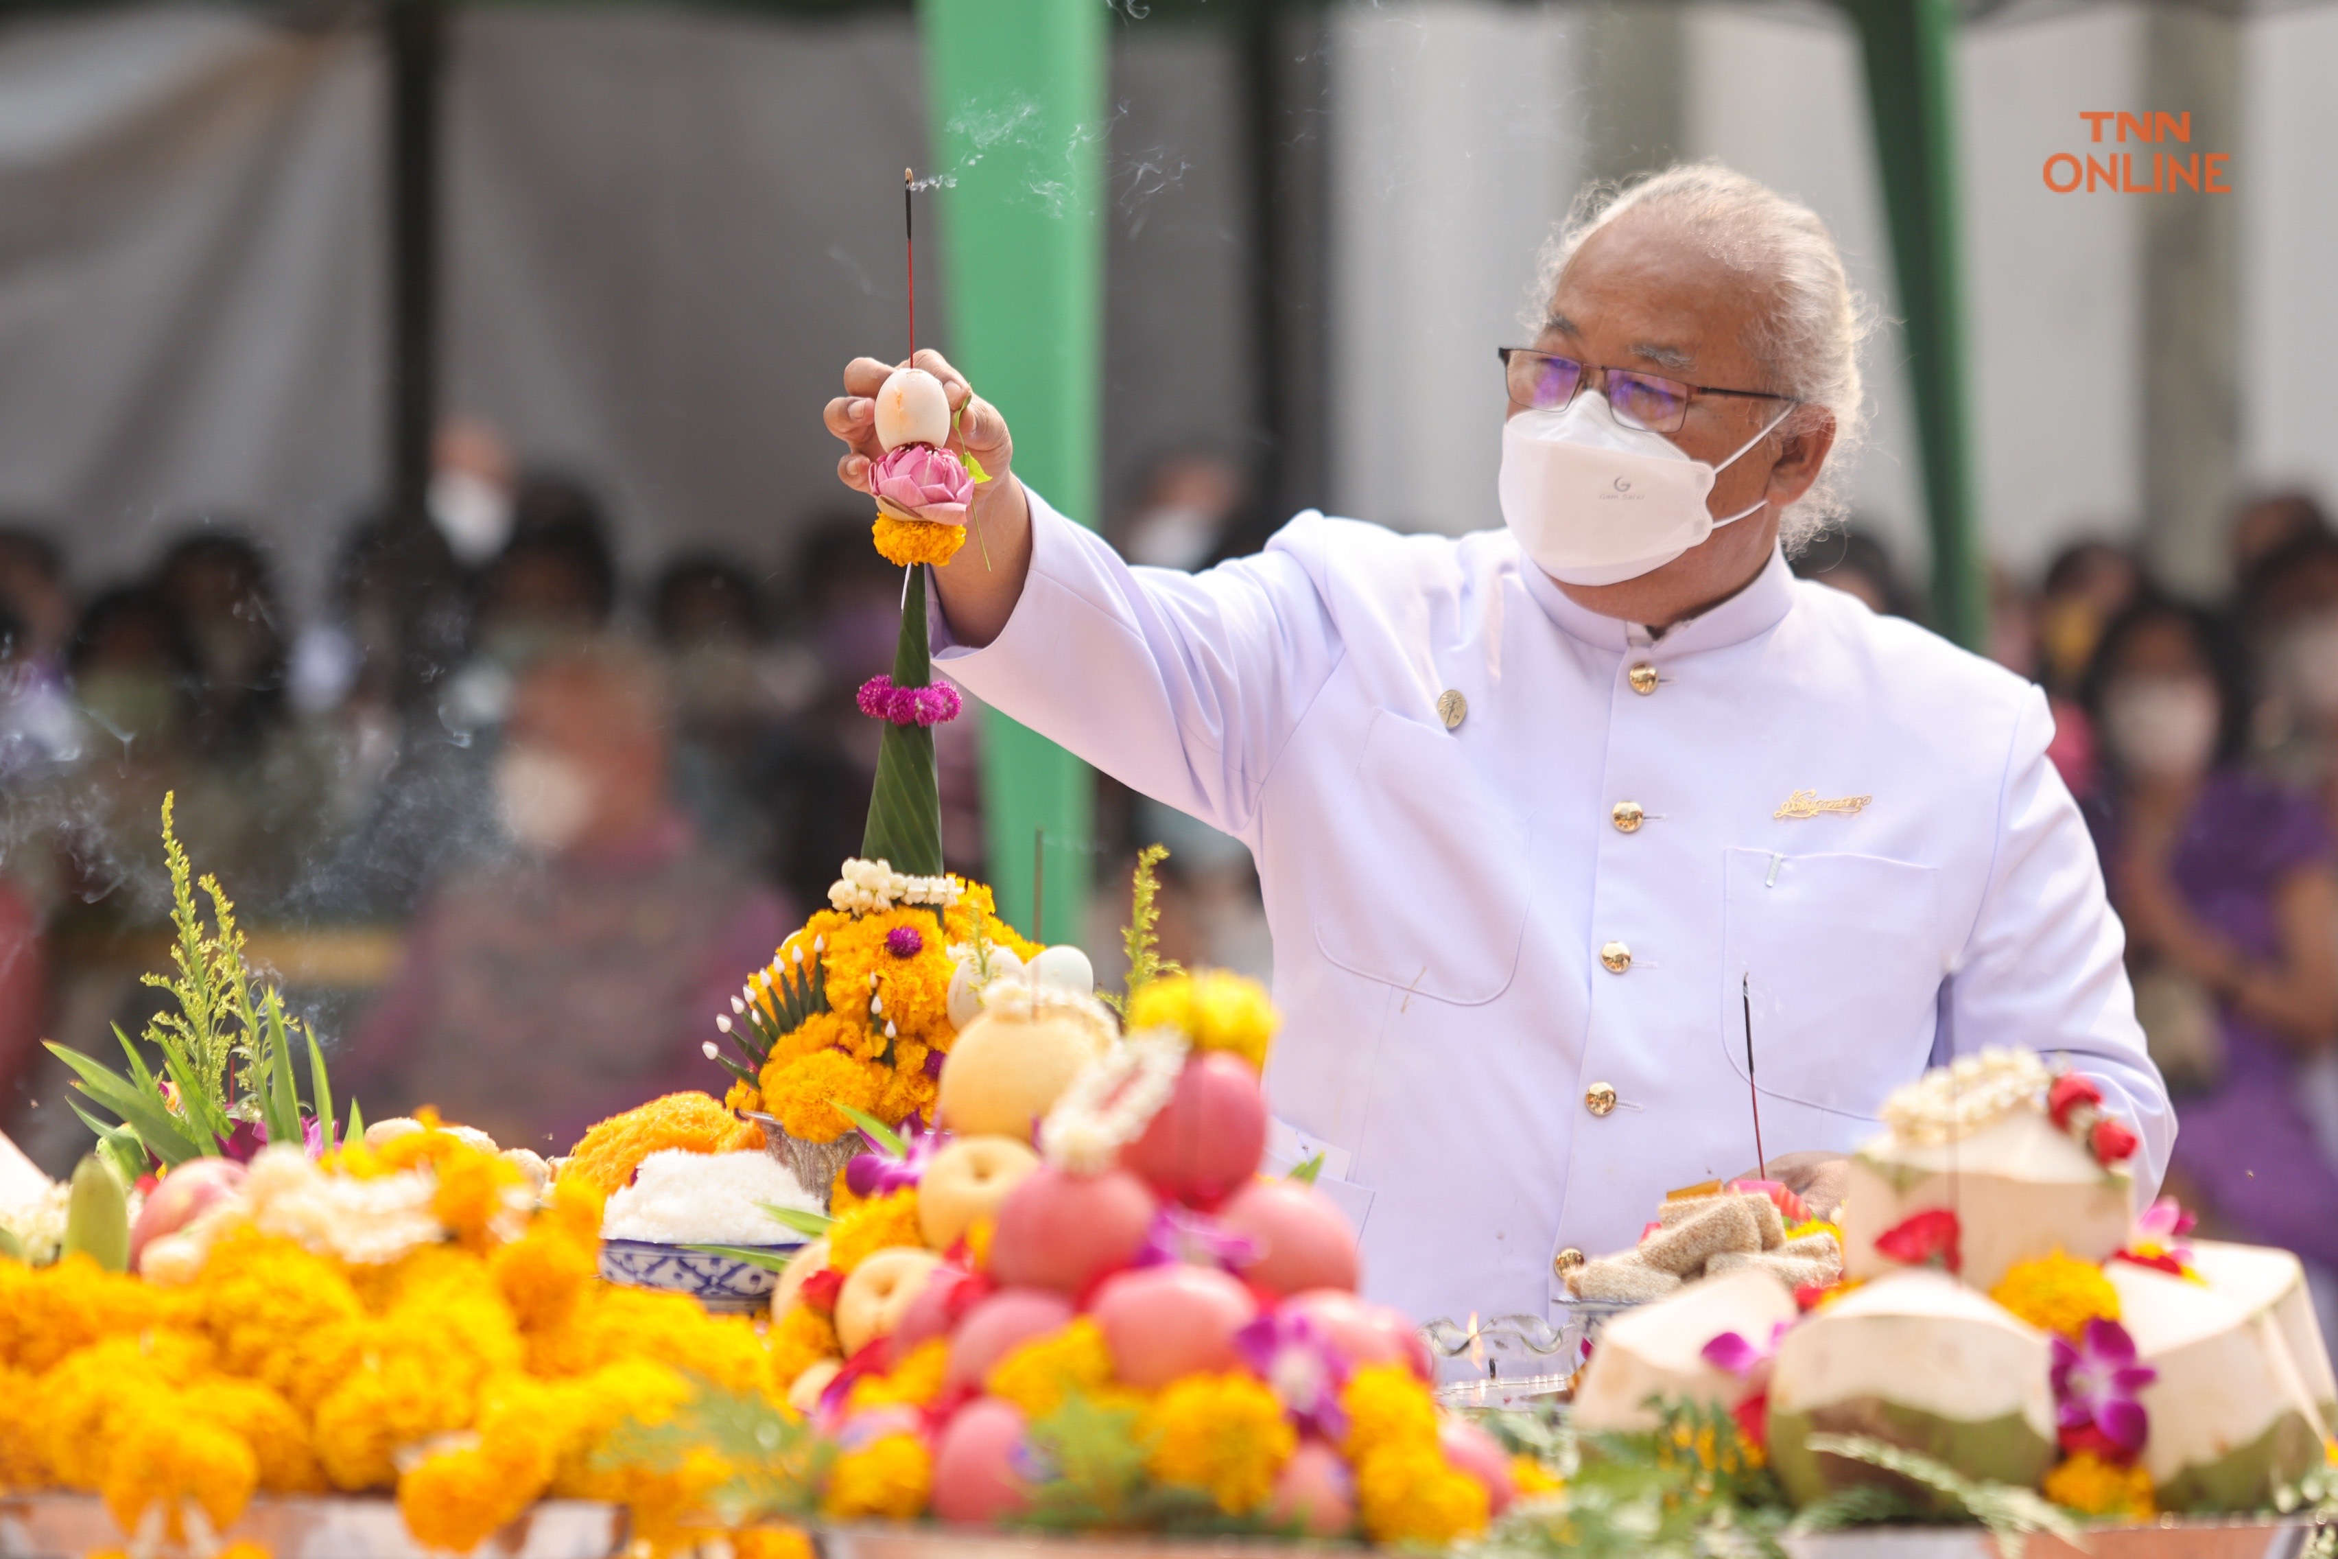
<path fill-rule="evenodd" d="M 1775 1099 L 1873 1120 L 1931 1056 L 1948 949 L 1938 867 L 1730 848 L 1721 1054 Z"/>

